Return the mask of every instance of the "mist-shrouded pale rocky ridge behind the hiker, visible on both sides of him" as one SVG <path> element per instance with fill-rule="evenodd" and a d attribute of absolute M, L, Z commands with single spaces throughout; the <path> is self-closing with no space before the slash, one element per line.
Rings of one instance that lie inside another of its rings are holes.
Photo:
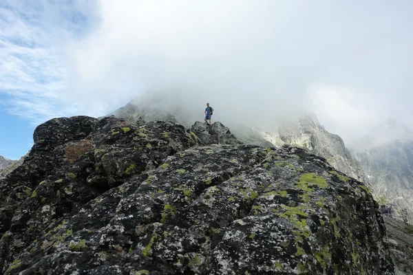
<path fill-rule="evenodd" d="M 153 96 L 148 94 L 143 98 L 136 98 L 124 107 L 117 109 L 111 115 L 133 122 L 136 119 L 173 120 L 190 126 L 188 118 L 193 117 L 193 110 L 187 115 L 178 107 L 157 107 L 153 103 Z M 234 132 L 237 139 L 246 144 L 259 146 L 279 147 L 284 144 L 304 148 L 315 155 L 324 157 L 334 168 L 368 183 L 360 163 L 350 155 L 339 135 L 326 131 L 320 126 L 314 114 L 303 113 L 297 117 L 283 118 L 276 126 L 255 127 L 237 126 Z"/>

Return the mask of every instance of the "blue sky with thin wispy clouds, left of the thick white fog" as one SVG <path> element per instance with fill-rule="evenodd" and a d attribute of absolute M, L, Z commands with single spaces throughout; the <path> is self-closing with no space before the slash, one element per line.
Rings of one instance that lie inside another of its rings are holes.
<path fill-rule="evenodd" d="M 76 1 L 0 2 L 0 155 L 19 159 L 36 125 L 76 114 L 59 98 L 67 79 L 59 40 L 90 30 L 82 8 Z"/>

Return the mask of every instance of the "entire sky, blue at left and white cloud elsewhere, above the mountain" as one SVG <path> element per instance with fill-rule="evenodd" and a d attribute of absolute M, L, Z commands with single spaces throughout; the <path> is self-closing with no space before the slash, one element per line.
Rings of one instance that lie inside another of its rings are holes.
<path fill-rule="evenodd" d="M 346 144 L 389 119 L 411 127 L 411 14 L 408 0 L 2 0 L 0 155 L 27 153 L 46 120 L 168 83 L 236 119 L 310 109 Z"/>

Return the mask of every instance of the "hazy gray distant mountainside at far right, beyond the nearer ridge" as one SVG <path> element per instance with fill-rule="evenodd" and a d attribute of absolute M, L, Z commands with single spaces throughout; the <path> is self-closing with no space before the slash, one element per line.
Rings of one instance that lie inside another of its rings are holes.
<path fill-rule="evenodd" d="M 396 216 L 407 210 L 413 223 L 413 142 L 393 142 L 354 152 L 379 203 L 393 203 Z"/>

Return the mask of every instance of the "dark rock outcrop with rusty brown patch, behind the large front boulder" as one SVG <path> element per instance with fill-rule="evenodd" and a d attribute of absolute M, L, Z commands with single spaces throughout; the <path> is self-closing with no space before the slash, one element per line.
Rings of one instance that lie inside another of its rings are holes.
<path fill-rule="evenodd" d="M 2 239 L 0 266 L 52 221 L 197 144 L 190 133 L 171 122 L 138 125 L 113 117 L 59 118 L 38 126 L 23 164 L 0 180 L 0 233 L 16 236 Z"/>

